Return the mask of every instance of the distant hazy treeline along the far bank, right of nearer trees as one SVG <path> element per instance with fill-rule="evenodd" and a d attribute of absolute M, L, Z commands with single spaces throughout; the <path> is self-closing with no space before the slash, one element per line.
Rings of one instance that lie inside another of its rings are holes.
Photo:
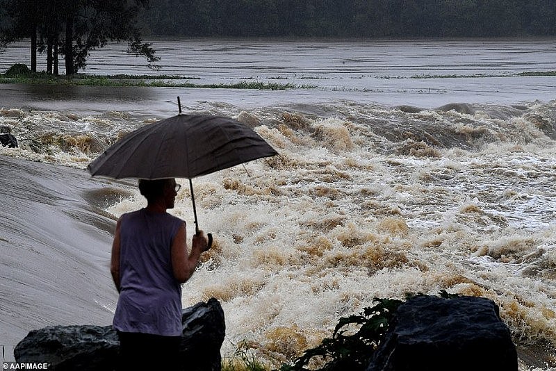
<path fill-rule="evenodd" d="M 145 35 L 436 38 L 556 35 L 554 0 L 157 0 Z"/>

